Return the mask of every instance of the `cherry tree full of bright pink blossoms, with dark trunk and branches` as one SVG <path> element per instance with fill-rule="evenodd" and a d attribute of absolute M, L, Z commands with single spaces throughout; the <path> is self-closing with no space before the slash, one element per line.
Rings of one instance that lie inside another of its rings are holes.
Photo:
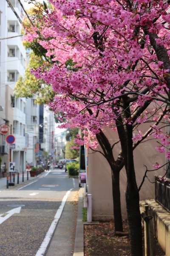
<path fill-rule="evenodd" d="M 69 128 L 79 127 L 85 136 L 77 142 L 96 148 L 96 136 L 112 170 L 113 200 L 119 190 L 119 172 L 125 165 L 126 206 L 131 256 L 142 256 L 139 188 L 133 150 L 152 133 L 160 140 L 156 148 L 170 159 L 168 125 L 170 104 L 170 13 L 164 0 L 51 0 L 42 26 L 25 30 L 25 40 L 37 42 L 55 63 L 48 70 L 32 69 L 37 79 L 51 84 L 56 93 L 49 103 L 62 113 Z M 68 59 L 74 63 L 69 69 Z M 140 125 L 150 122 L 144 133 Z M 119 134 L 117 159 L 102 131 L 111 127 Z M 133 136 L 134 131 L 136 133 Z M 91 140 L 91 143 L 89 143 Z M 153 164 L 159 168 L 159 163 Z M 115 181 L 118 182 L 115 182 Z M 116 188 L 116 189 L 115 189 Z M 115 211 L 117 209 L 114 204 Z M 119 220 L 121 221 L 121 219 Z"/>

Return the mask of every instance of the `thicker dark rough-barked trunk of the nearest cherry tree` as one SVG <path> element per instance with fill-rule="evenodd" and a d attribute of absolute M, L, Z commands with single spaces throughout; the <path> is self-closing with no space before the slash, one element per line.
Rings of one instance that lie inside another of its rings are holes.
<path fill-rule="evenodd" d="M 126 99 L 122 99 L 123 109 L 125 110 L 117 120 L 117 130 L 122 147 L 124 157 L 127 187 L 126 187 L 126 208 L 127 219 L 129 224 L 130 236 L 130 255 L 142 256 L 142 225 L 139 209 L 139 191 L 136 183 L 134 160 L 133 160 L 133 127 L 132 125 L 123 124 L 123 118 L 130 116 L 130 109 L 126 103 Z"/>

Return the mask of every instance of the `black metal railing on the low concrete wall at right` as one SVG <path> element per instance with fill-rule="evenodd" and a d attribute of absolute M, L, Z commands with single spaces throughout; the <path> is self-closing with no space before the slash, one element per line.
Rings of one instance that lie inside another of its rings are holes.
<path fill-rule="evenodd" d="M 160 178 L 160 180 L 158 180 Z M 170 212 L 170 179 L 156 176 L 155 200 Z"/>

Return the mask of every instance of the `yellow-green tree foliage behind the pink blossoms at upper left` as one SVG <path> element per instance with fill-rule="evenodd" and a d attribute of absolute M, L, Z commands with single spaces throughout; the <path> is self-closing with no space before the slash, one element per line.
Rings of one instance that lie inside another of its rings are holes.
<path fill-rule="evenodd" d="M 39 3 L 37 1 L 34 1 L 34 8 L 30 8 L 27 13 L 28 17 L 34 17 L 36 20 L 36 23 L 34 23 L 34 26 L 37 28 L 40 28 L 44 24 L 43 22 L 43 16 L 46 13 L 46 9 L 50 7 L 50 9 L 53 9 L 51 3 Z M 32 20 L 28 17 L 25 17 L 23 19 L 23 28 L 22 33 L 24 34 L 25 31 L 29 30 L 30 26 L 32 26 Z M 35 21 L 34 20 L 34 21 Z M 36 30 L 38 31 L 38 30 Z M 31 98 L 34 95 L 36 95 L 36 103 L 42 104 L 48 104 L 48 102 L 53 101 L 55 93 L 51 89 L 51 84 L 46 84 L 44 80 L 42 79 L 36 79 L 34 75 L 30 74 L 31 68 L 38 68 L 38 67 L 44 67 L 45 69 L 49 69 L 51 67 L 51 64 L 58 61 L 52 61 L 53 55 L 50 57 L 46 56 L 47 50 L 42 47 L 38 43 L 38 39 L 42 38 L 42 35 L 39 35 L 37 32 L 38 37 L 34 38 L 32 42 L 23 41 L 24 47 L 28 50 L 28 58 L 29 58 L 29 64 L 28 67 L 25 70 L 24 76 L 20 76 L 16 86 L 14 87 L 14 94 L 16 97 L 26 97 Z M 48 41 L 51 38 L 43 38 L 45 41 Z M 66 67 L 68 69 L 74 69 L 77 70 L 77 68 L 74 67 L 72 59 L 68 59 L 65 63 Z M 58 116 L 62 116 L 62 113 L 57 113 Z M 64 120 L 64 119 L 63 119 Z M 56 117 L 56 122 L 61 122 Z"/>

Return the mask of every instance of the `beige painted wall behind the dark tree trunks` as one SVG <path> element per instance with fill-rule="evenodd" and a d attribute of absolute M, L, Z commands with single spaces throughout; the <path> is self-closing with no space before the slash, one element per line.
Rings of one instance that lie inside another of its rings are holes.
<path fill-rule="evenodd" d="M 111 129 L 105 130 L 107 137 L 111 138 L 110 143 L 117 141 L 116 132 Z M 114 137 L 114 139 L 113 139 Z M 153 136 L 150 137 L 153 139 Z M 148 140 L 147 143 L 142 143 L 134 151 L 136 181 L 139 186 L 146 168 L 154 169 L 152 164 L 158 162 L 160 164 L 165 163 L 164 154 L 160 154 L 154 148 L 157 146 L 156 141 Z M 120 145 L 116 145 L 113 152 L 115 156 L 118 156 Z M 98 147 L 100 150 L 100 147 Z M 116 158 L 115 157 L 115 158 Z M 88 193 L 92 194 L 92 218 L 93 220 L 108 220 L 113 219 L 113 198 L 112 198 L 112 184 L 111 184 L 111 169 L 108 165 L 105 157 L 102 154 L 96 152 L 93 153 L 89 150 L 88 153 Z M 148 177 L 151 181 L 155 180 L 154 175 L 164 174 L 165 171 L 156 171 L 148 173 Z M 127 218 L 126 205 L 125 205 L 125 188 L 126 188 L 126 173 L 125 168 L 120 172 L 120 189 L 121 189 L 121 205 L 122 205 L 122 217 Z M 155 198 L 154 184 L 145 180 L 142 189 L 140 191 L 140 200 Z"/>

